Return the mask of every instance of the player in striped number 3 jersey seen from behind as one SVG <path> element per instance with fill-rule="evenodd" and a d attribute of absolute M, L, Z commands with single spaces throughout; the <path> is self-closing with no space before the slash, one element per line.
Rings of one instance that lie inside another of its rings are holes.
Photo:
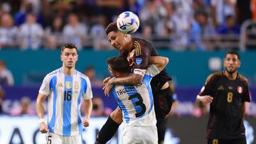
<path fill-rule="evenodd" d="M 141 83 L 135 85 L 117 85 L 112 87 L 114 96 L 122 109 L 122 143 L 157 144 L 156 116 L 150 81 L 159 74 L 169 62 L 167 57 L 151 57 L 151 65 L 145 72 Z M 127 77 L 130 72 L 127 57 L 111 57 L 107 60 L 110 74 L 116 78 Z"/>

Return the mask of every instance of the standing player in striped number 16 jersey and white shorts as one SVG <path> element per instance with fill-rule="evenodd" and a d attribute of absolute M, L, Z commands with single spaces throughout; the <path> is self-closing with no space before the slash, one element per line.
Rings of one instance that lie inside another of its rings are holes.
<path fill-rule="evenodd" d="M 78 49 L 67 43 L 61 48 L 63 66 L 43 79 L 36 100 L 40 131 L 47 133 L 47 143 L 82 144 L 82 125 L 89 126 L 92 112 L 92 88 L 87 76 L 75 70 Z M 43 121 L 43 101 L 48 98 L 48 123 Z M 85 101 L 81 121 L 80 103 Z"/>

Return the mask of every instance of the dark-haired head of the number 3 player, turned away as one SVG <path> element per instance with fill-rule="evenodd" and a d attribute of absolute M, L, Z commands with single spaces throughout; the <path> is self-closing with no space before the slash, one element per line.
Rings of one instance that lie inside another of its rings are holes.
<path fill-rule="evenodd" d="M 126 57 L 110 57 L 107 67 L 113 77 L 124 77 L 129 74 L 129 62 Z"/>

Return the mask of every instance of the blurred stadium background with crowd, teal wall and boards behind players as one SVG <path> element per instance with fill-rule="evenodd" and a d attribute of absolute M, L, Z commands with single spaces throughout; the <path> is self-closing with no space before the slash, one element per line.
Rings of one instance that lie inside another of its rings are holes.
<path fill-rule="evenodd" d="M 206 143 L 208 108 L 195 103 L 206 77 L 223 70 L 227 50 L 240 52 L 240 74 L 249 79 L 247 143 L 256 143 L 255 0 L 0 0 L 0 143 L 43 143 L 35 100 L 43 77 L 58 67 L 60 45 L 79 48 L 76 66 L 90 76 L 93 117 L 85 143 L 117 104 L 104 96 L 106 60 L 118 55 L 105 26 L 119 13 L 133 11 L 141 26 L 134 36 L 150 40 L 169 57 L 176 106 L 167 120 L 166 144 Z M 110 141 L 120 143 L 120 131 Z"/>

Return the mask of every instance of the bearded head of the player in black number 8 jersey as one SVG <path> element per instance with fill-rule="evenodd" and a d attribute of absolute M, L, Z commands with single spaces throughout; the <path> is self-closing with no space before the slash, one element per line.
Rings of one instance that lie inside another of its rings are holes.
<path fill-rule="evenodd" d="M 240 65 L 241 62 L 238 52 L 228 51 L 224 60 L 225 71 L 229 74 L 233 74 L 234 72 L 237 72 Z"/>

